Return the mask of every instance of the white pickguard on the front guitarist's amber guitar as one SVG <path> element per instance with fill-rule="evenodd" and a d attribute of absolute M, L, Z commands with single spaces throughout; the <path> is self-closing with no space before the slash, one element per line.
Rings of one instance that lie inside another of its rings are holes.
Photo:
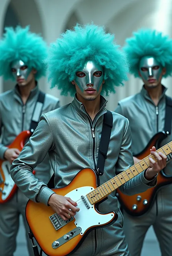
<path fill-rule="evenodd" d="M 75 218 L 75 225 L 76 227 L 81 227 L 81 235 L 84 232 L 95 225 L 102 225 L 110 222 L 114 218 L 114 213 L 110 214 L 99 214 L 97 211 L 94 210 L 94 205 L 90 204 L 89 200 L 86 197 L 86 194 L 93 191 L 94 188 L 92 187 L 80 187 L 71 192 L 69 192 L 66 196 L 70 197 L 73 201 L 77 202 L 78 208 L 80 209 L 79 212 L 74 216 Z M 81 196 L 85 196 L 87 203 L 89 204 L 90 208 L 87 209 L 85 204 L 83 203 Z M 93 208 L 92 208 L 93 207 Z"/>

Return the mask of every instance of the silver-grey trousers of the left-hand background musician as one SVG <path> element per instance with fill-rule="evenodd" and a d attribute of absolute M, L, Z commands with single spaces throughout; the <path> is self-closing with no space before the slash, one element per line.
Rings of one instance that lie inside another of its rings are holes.
<path fill-rule="evenodd" d="M 34 256 L 25 218 L 25 207 L 28 198 L 18 189 L 15 195 L 4 204 L 0 204 L 0 255 L 13 256 L 16 250 L 16 236 L 19 230 L 19 216 L 22 215 L 26 229 L 26 240 L 29 256 Z"/>

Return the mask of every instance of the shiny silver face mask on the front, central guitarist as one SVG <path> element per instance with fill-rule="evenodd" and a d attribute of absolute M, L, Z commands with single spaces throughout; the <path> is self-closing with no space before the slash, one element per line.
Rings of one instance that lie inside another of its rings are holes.
<path fill-rule="evenodd" d="M 79 71 L 85 73 L 84 77 L 75 77 L 75 82 L 81 91 L 84 92 L 89 87 L 93 87 L 98 92 L 103 82 L 103 66 L 97 64 L 94 61 L 88 61 L 84 65 L 83 69 L 78 70 L 78 72 Z M 97 71 L 102 72 L 100 77 L 94 76 L 94 73 Z"/>

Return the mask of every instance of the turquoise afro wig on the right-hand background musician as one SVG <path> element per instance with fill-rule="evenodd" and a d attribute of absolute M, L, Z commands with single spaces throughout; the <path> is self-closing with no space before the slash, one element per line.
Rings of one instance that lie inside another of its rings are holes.
<path fill-rule="evenodd" d="M 123 50 L 130 63 L 130 73 L 139 77 L 139 62 L 143 56 L 153 56 L 166 68 L 164 77 L 172 73 L 172 40 L 168 36 L 151 29 L 141 29 L 133 33 L 134 37 L 127 38 Z"/>

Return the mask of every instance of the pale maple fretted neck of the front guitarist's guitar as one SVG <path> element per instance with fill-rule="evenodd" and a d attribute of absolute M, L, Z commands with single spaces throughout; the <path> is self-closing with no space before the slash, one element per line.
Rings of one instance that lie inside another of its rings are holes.
<path fill-rule="evenodd" d="M 169 155 L 172 153 L 172 141 L 167 143 L 165 146 L 161 147 L 156 151 L 157 153 L 161 152 L 165 155 Z M 157 162 L 157 159 L 153 154 L 148 155 L 148 157 L 145 157 L 140 162 L 134 164 L 130 168 L 128 168 L 126 171 L 121 172 L 120 174 L 116 175 L 114 178 L 108 180 L 101 186 L 95 188 L 93 191 L 88 193 L 86 196 L 91 204 L 95 204 L 99 201 L 101 201 L 103 198 L 108 196 L 111 192 L 125 184 L 128 180 L 134 178 L 138 174 L 140 174 L 142 171 L 146 170 L 150 166 L 150 160 L 149 157 L 151 157 L 153 160 Z"/>

